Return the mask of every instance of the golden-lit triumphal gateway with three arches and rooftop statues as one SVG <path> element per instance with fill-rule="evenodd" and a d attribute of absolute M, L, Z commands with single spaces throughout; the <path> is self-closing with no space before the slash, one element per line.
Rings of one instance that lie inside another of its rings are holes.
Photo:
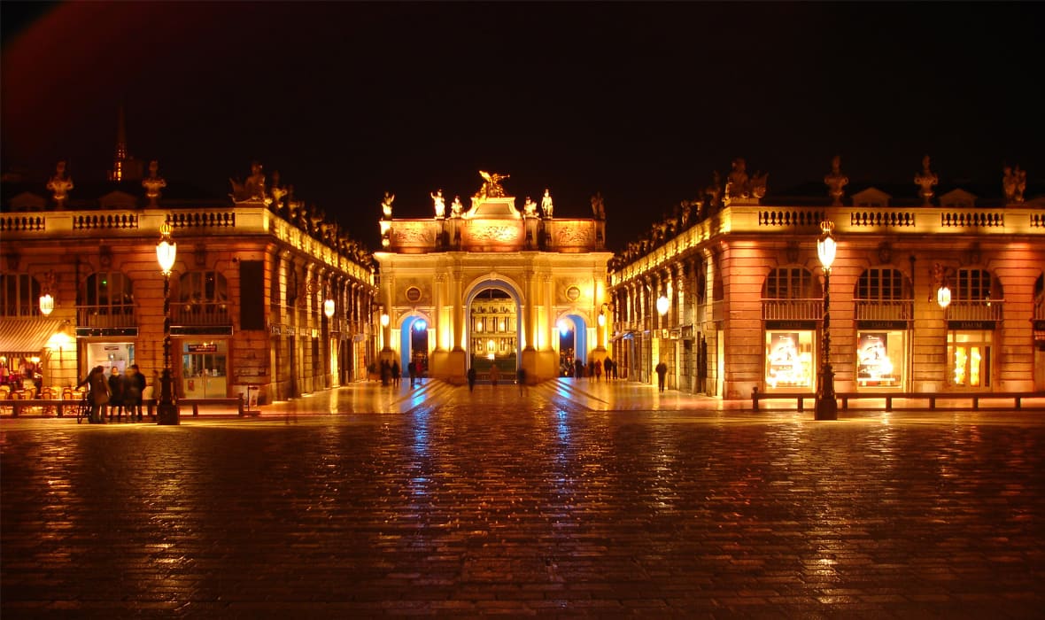
<path fill-rule="evenodd" d="M 433 193 L 435 217 L 395 219 L 393 194 L 382 207 L 380 355 L 400 366 L 421 360 L 428 376 L 464 383 L 496 365 L 518 368 L 531 382 L 560 374 L 562 343 L 584 362 L 606 354 L 606 328 L 596 320 L 606 302 L 605 216 L 553 219 L 545 191 L 541 210 L 526 201 L 520 213 L 505 196 L 507 175 L 482 173 L 485 183 L 467 211 Z M 600 203 L 601 206 L 601 203 Z M 563 338 L 560 329 L 571 334 Z"/>

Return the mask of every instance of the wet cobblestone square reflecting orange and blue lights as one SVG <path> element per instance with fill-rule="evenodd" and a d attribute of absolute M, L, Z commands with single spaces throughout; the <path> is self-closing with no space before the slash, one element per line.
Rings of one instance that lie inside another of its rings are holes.
<path fill-rule="evenodd" d="M 3 618 L 1032 618 L 1040 412 L 355 384 L 0 420 Z"/>

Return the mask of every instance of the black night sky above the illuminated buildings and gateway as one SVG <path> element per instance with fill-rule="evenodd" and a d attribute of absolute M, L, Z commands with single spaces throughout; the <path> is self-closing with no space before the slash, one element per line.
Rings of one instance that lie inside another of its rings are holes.
<path fill-rule="evenodd" d="M 129 150 L 218 194 L 266 173 L 377 247 L 380 197 L 428 216 L 479 169 L 602 191 L 611 249 L 744 157 L 822 179 L 1045 176 L 1037 3 L 0 3 L 2 166 L 74 180 Z"/>

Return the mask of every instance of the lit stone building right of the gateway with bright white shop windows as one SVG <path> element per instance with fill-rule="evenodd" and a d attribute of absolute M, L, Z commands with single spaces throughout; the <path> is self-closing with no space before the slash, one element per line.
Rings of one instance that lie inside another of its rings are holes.
<path fill-rule="evenodd" d="M 614 256 L 610 348 L 622 373 L 651 382 L 664 361 L 670 389 L 814 391 L 827 220 L 838 244 L 839 391 L 1045 390 L 1045 199 L 1025 201 L 1008 169 L 999 199 L 960 187 L 937 197 L 928 158 L 913 186 L 895 190 L 909 199 L 869 186 L 845 197 L 838 167 L 819 197 L 767 199 L 764 177 L 738 160 L 724 187 L 713 183 Z"/>

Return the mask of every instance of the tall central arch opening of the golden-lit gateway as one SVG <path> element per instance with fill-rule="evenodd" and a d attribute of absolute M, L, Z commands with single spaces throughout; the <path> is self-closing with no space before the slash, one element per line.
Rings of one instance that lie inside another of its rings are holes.
<path fill-rule="evenodd" d="M 477 282 L 465 306 L 468 368 L 482 381 L 495 367 L 503 380 L 514 377 L 522 348 L 521 303 L 515 288 L 501 279 Z"/>

